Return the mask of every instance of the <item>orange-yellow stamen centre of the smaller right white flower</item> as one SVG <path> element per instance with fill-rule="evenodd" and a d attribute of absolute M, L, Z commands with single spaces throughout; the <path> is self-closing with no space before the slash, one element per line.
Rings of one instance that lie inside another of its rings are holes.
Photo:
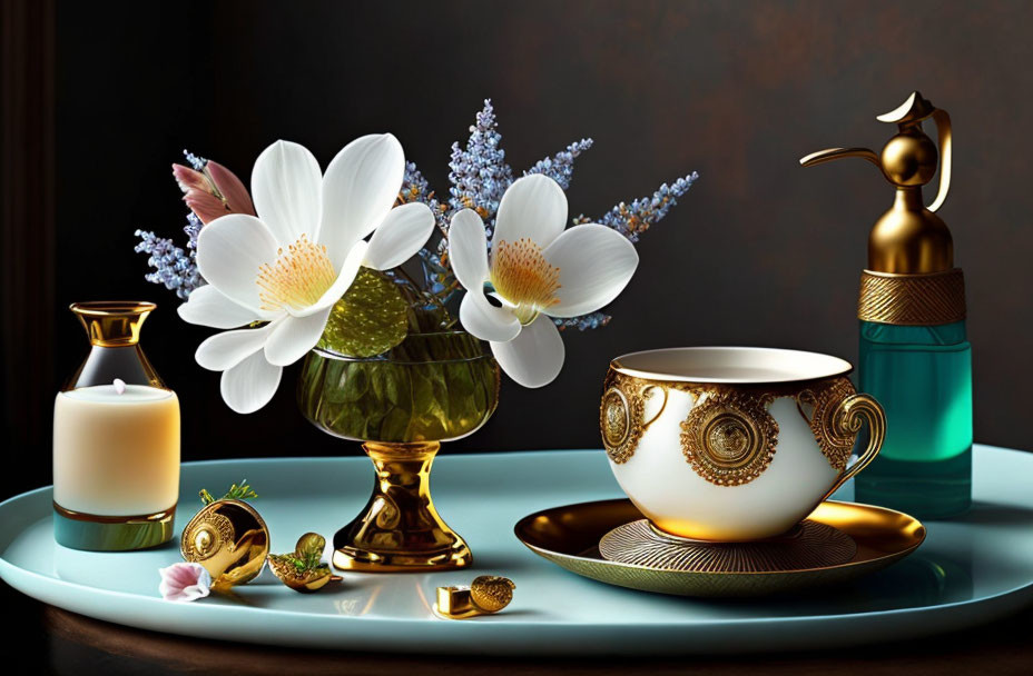
<path fill-rule="evenodd" d="M 514 315 L 523 325 L 560 301 L 560 269 L 549 265 L 542 248 L 528 238 L 494 245 L 491 284 L 500 296 L 516 306 Z"/>

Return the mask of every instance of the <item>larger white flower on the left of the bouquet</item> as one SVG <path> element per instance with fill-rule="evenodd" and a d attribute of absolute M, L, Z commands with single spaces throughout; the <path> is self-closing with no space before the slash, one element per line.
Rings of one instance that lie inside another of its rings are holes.
<path fill-rule="evenodd" d="M 223 371 L 232 409 L 252 412 L 273 398 L 282 367 L 315 347 L 361 266 L 393 268 L 426 242 L 434 228 L 426 205 L 392 209 L 404 171 L 402 146 L 390 133 L 355 139 L 325 176 L 303 146 L 276 141 L 252 172 L 258 217 L 230 213 L 201 229 L 197 267 L 208 285 L 179 316 L 219 329 L 268 322 L 197 348 L 200 366 Z"/>

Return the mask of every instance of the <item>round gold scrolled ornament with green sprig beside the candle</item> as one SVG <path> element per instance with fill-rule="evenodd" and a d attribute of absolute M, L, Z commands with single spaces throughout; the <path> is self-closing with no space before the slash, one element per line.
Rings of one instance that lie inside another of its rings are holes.
<path fill-rule="evenodd" d="M 179 551 L 189 563 L 205 567 L 211 588 L 226 592 L 253 580 L 269 554 L 269 529 L 254 507 L 258 497 L 245 481 L 234 484 L 223 498 L 200 491 L 205 507 L 183 529 Z"/>

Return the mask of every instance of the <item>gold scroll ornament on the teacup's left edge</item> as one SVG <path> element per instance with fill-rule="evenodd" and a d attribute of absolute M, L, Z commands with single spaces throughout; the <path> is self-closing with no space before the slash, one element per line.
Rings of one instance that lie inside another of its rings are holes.
<path fill-rule="evenodd" d="M 610 459 L 622 465 L 631 459 L 639 439 L 667 407 L 667 390 L 642 380 L 610 371 L 604 384 L 602 404 L 599 407 L 599 427 L 602 444 Z M 646 419 L 646 400 L 659 392 L 663 397 L 660 410 Z"/>

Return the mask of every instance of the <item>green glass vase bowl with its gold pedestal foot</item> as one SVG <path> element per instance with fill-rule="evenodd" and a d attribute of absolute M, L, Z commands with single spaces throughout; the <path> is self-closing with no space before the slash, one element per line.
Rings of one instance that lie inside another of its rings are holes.
<path fill-rule="evenodd" d="M 498 364 L 463 331 L 411 334 L 368 359 L 322 348 L 308 354 L 298 379 L 302 412 L 327 434 L 362 441 L 375 471 L 365 509 L 334 536 L 336 568 L 471 565 L 470 547 L 434 508 L 431 468 L 443 441 L 488 421 L 499 385 Z"/>

